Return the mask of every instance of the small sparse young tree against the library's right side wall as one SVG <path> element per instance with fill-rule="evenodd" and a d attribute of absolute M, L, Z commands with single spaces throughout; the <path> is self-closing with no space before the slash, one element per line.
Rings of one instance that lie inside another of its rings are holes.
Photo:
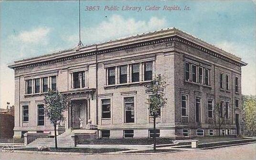
<path fill-rule="evenodd" d="M 219 129 L 219 136 L 221 135 L 221 127 L 224 124 L 224 122 L 226 121 L 226 116 L 227 116 L 227 112 L 225 107 L 225 103 L 217 103 L 215 104 L 215 106 L 213 107 L 214 110 L 214 123 L 215 125 L 218 124 L 218 129 Z"/>

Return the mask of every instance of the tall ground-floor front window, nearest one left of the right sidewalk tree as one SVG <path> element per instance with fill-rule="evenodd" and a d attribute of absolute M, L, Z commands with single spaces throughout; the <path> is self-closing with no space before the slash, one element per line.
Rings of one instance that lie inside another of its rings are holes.
<path fill-rule="evenodd" d="M 125 122 L 134 122 L 134 97 L 124 98 L 125 102 Z"/>

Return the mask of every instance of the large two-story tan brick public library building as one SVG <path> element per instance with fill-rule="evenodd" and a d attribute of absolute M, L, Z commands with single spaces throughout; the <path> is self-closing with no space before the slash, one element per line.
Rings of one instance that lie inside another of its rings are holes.
<path fill-rule="evenodd" d="M 228 112 L 221 131 L 240 134 L 241 58 L 176 28 L 15 61 L 14 137 L 53 131 L 43 114 L 47 88 L 74 106 L 58 131 L 97 125 L 99 137 L 152 135 L 145 84 L 166 77 L 167 105 L 157 118 L 159 137 L 218 135 L 214 104 Z M 227 107 L 226 107 L 227 106 Z M 52 132 L 53 133 L 53 132 Z"/>

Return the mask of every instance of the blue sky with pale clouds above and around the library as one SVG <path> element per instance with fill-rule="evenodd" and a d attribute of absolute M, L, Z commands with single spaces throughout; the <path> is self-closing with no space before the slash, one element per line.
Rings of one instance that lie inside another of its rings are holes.
<path fill-rule="evenodd" d="M 99 6 L 85 11 L 85 6 Z M 106 11 L 117 6 L 118 11 Z M 122 6 L 142 11 L 122 11 Z M 146 6 L 160 10 L 146 11 Z M 165 11 L 163 6 L 181 10 Z M 187 6 L 190 10 L 183 10 Z M 242 68 L 242 93 L 256 94 L 256 2 L 243 1 L 82 1 L 81 38 L 84 45 L 175 27 L 248 63 Z M 78 43 L 78 1 L 0 2 L 0 107 L 14 103 L 17 59 L 73 48 Z"/>

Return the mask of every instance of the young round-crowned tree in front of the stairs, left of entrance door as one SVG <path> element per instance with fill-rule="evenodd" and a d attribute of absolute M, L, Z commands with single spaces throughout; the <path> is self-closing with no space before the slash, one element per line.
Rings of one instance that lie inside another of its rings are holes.
<path fill-rule="evenodd" d="M 44 113 L 54 126 L 55 148 L 57 149 L 56 126 L 58 122 L 64 121 L 65 119 L 64 111 L 66 111 L 70 105 L 69 99 L 64 94 L 49 90 L 44 96 L 44 101 Z"/>

